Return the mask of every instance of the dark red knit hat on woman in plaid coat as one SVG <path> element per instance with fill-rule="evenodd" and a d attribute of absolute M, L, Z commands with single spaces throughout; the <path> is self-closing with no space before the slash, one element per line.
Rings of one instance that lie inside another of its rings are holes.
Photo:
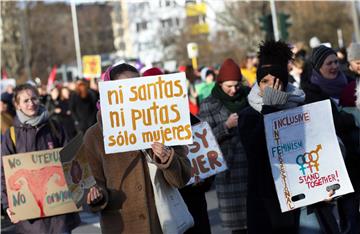
<path fill-rule="evenodd" d="M 225 62 L 221 65 L 219 75 L 216 79 L 218 83 L 225 81 L 241 81 L 242 75 L 240 67 L 232 60 L 227 58 Z"/>

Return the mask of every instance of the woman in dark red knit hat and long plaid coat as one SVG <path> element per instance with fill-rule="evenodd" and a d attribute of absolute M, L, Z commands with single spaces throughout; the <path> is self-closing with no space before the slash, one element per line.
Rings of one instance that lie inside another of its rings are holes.
<path fill-rule="evenodd" d="M 211 126 L 228 170 L 216 175 L 222 225 L 246 233 L 247 162 L 237 129 L 238 112 L 248 103 L 239 66 L 230 58 L 222 64 L 211 95 L 200 105 L 199 117 Z"/>

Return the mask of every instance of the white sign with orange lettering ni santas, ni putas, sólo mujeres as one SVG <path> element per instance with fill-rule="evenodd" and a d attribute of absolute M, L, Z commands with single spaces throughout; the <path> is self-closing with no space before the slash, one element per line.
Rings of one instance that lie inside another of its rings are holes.
<path fill-rule="evenodd" d="M 99 83 L 105 152 L 191 144 L 185 73 Z"/>

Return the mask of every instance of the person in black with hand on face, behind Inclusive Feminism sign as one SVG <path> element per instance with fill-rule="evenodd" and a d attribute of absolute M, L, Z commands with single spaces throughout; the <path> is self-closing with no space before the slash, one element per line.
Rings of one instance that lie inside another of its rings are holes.
<path fill-rule="evenodd" d="M 292 52 L 283 42 L 266 41 L 258 52 L 257 83 L 250 107 L 239 114 L 239 133 L 248 159 L 247 227 L 249 234 L 297 233 L 298 211 L 281 213 L 265 138 L 264 114 L 296 107 L 304 92 L 288 84 Z"/>

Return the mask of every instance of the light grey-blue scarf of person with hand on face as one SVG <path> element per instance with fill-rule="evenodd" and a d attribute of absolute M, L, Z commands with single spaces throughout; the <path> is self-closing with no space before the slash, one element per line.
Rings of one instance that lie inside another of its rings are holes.
<path fill-rule="evenodd" d="M 286 86 L 286 93 L 290 94 L 286 104 L 278 105 L 277 107 L 281 110 L 297 107 L 299 104 L 305 101 L 305 93 L 301 89 L 296 88 L 292 84 Z M 264 105 L 263 99 L 260 96 L 260 87 L 257 83 L 252 87 L 248 96 L 249 105 L 256 111 L 261 112 L 262 106 Z"/>

